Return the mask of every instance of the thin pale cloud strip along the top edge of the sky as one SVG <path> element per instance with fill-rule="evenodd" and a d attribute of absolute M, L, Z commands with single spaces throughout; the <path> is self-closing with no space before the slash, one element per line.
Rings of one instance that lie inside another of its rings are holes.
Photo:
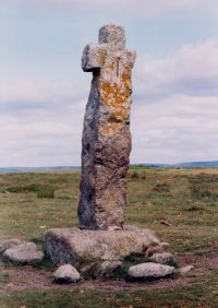
<path fill-rule="evenodd" d="M 2 3 L 13 3 L 12 0 L 3 0 Z M 71 8 L 80 11 L 109 10 L 113 12 L 132 12 L 142 16 L 157 16 L 159 14 L 184 12 L 189 10 L 215 10 L 218 8 L 216 0 L 17 0 L 19 5 L 46 8 Z"/>

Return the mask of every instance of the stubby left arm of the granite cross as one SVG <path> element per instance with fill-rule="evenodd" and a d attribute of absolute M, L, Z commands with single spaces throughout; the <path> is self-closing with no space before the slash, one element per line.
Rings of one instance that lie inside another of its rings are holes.
<path fill-rule="evenodd" d="M 104 44 L 88 44 L 84 48 L 82 68 L 85 72 L 101 69 L 105 64 L 107 51 Z"/>

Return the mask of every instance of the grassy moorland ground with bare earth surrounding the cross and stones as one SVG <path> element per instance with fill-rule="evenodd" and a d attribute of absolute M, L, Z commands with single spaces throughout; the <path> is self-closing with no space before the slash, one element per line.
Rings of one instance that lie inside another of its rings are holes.
<path fill-rule="evenodd" d="M 0 175 L 0 240 L 41 245 L 46 229 L 77 225 L 80 171 Z M 218 169 L 131 168 L 126 223 L 169 242 L 186 276 L 150 283 L 52 283 L 53 265 L 0 261 L 0 307 L 218 307 Z M 138 260 L 129 260 L 134 263 Z"/>

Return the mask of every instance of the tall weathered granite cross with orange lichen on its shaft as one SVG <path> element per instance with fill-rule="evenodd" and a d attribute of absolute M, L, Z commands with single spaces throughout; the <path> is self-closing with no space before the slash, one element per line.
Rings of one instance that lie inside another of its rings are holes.
<path fill-rule="evenodd" d="M 135 51 L 125 49 L 124 28 L 99 29 L 98 44 L 88 44 L 82 58 L 93 81 L 84 118 L 80 227 L 122 228 L 126 205 L 126 173 L 131 152 L 131 70 Z"/>

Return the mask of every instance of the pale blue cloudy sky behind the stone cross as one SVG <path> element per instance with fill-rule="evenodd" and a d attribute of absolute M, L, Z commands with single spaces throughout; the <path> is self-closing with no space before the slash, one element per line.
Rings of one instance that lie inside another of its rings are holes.
<path fill-rule="evenodd" d="M 135 49 L 131 163 L 218 161 L 217 0 L 0 0 L 0 167 L 78 166 L 86 44 Z"/>

